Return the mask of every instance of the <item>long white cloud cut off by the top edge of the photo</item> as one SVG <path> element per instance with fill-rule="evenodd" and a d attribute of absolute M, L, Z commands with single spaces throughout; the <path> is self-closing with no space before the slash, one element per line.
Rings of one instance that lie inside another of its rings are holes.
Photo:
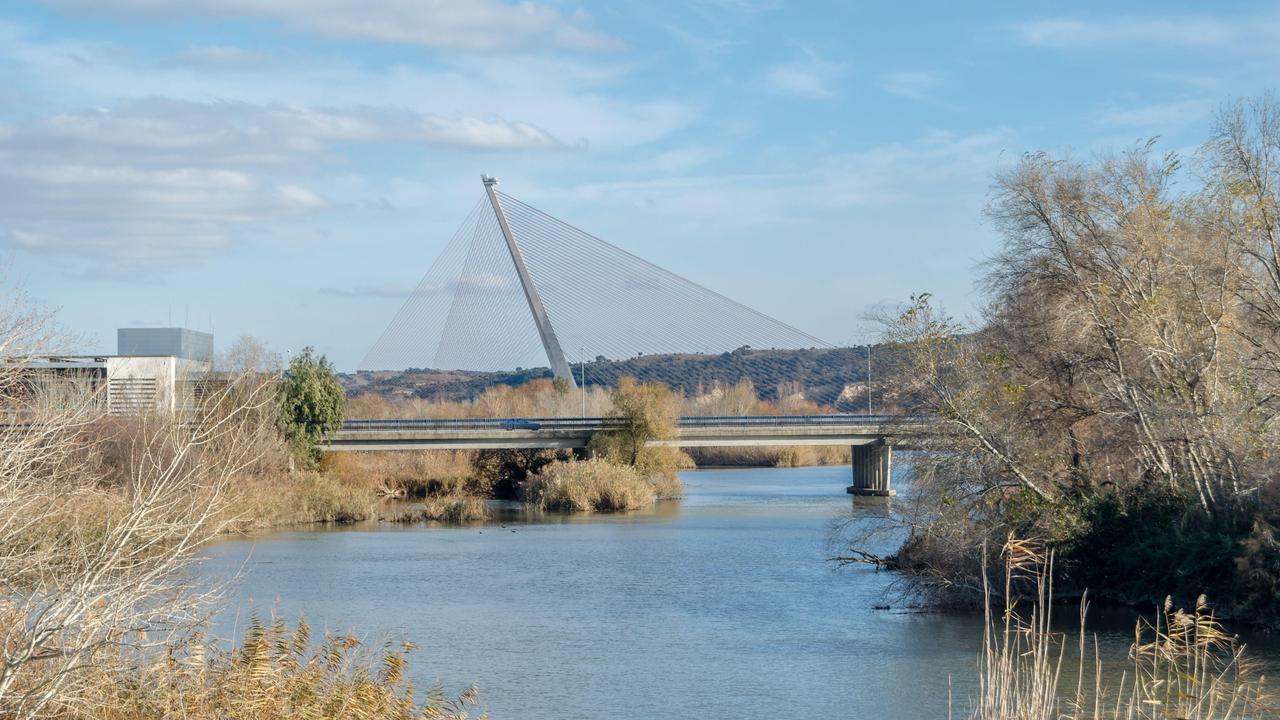
<path fill-rule="evenodd" d="M 618 50 L 623 44 L 598 29 L 582 13 L 521 0 L 46 0 L 88 13 L 151 15 L 251 15 L 292 29 L 330 37 L 493 51 Z"/>

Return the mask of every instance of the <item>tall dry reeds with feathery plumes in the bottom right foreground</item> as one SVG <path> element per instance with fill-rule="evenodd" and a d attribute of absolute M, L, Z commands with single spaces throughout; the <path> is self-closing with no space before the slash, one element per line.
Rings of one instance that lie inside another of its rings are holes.
<path fill-rule="evenodd" d="M 1052 630 L 1052 553 L 1010 539 L 1004 548 L 1004 611 L 986 589 L 986 632 L 972 720 L 1261 720 L 1280 707 L 1266 680 L 1201 597 L 1190 612 L 1171 601 L 1152 620 L 1139 619 L 1128 666 L 1089 656 L 1085 618 L 1073 644 L 1074 688 L 1062 688 L 1071 638 Z M 1018 597 L 1030 600 L 1027 611 Z"/>

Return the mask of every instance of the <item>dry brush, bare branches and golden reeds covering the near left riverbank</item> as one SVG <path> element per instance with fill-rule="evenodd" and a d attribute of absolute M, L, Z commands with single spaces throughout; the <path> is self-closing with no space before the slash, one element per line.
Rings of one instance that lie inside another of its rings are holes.
<path fill-rule="evenodd" d="M 260 356 L 200 378 L 178 414 L 110 418 L 92 387 L 13 360 L 64 346 L 47 313 L 5 297 L 0 413 L 20 421 L 0 425 L 0 717 L 468 716 L 471 692 L 413 698 L 403 644 L 315 644 L 305 623 L 255 623 L 230 650 L 202 638 L 221 589 L 192 582 L 210 542 L 371 500 L 285 441 L 289 392 Z"/>

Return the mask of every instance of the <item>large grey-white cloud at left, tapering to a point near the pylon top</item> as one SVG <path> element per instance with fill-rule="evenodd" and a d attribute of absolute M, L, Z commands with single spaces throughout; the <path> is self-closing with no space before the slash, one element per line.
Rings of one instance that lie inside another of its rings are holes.
<path fill-rule="evenodd" d="M 328 209 L 314 170 L 337 142 L 558 143 L 504 120 L 406 110 L 143 100 L 0 126 L 0 238 L 106 272 L 198 260 Z"/>

